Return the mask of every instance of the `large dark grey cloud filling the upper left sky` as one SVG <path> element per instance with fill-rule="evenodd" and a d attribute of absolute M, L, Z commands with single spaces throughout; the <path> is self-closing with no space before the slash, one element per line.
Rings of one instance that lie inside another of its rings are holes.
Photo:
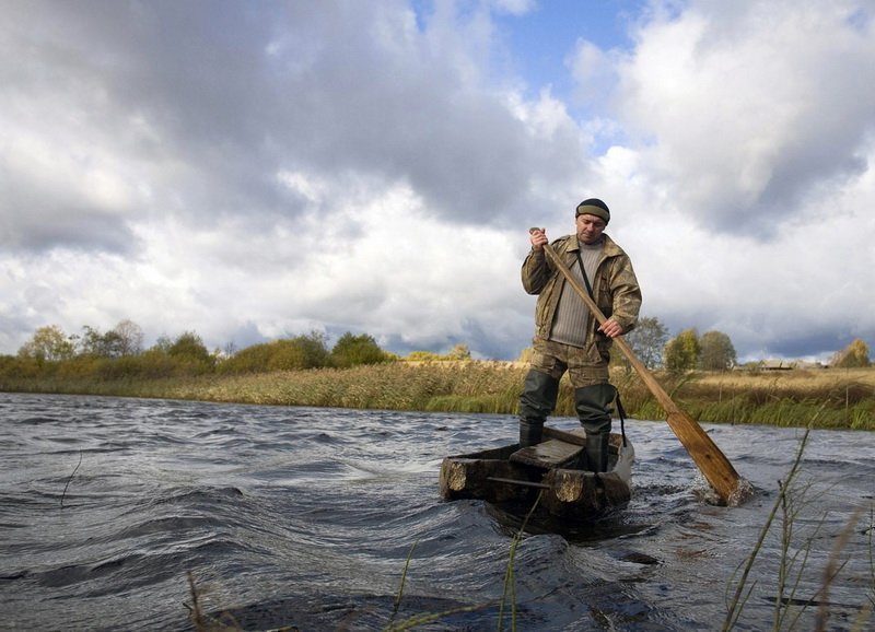
<path fill-rule="evenodd" d="M 95 162 L 104 150 L 93 168 L 122 161 L 126 185 L 148 189 L 95 222 L 36 182 L 9 183 L 0 195 L 20 210 L 7 220 L 19 244 L 81 243 L 79 231 L 14 219 L 31 212 L 65 215 L 56 229 L 82 220 L 110 250 L 137 215 L 295 215 L 304 204 L 278 183 L 283 169 L 405 183 L 436 216 L 508 221 L 544 203 L 530 182 L 580 169 L 574 134 L 528 136 L 402 2 L 12 2 L 3 13 L 7 48 L 25 59 L 3 62 L 18 95 L 0 104 L 10 124 L 38 102 L 61 153 Z"/>

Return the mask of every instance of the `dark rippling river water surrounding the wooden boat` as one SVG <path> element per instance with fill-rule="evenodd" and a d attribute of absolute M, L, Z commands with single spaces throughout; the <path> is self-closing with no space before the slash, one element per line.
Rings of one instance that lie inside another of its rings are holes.
<path fill-rule="evenodd" d="M 445 455 L 511 443 L 509 416 L 0 394 L 0 423 L 10 630 L 190 629 L 189 577 L 205 613 L 247 630 L 383 630 L 427 613 L 444 616 L 417 630 L 719 630 L 803 436 L 703 424 L 756 490 L 720 507 L 664 422 L 629 420 L 630 505 L 533 526 L 505 583 L 518 518 L 442 501 L 438 473 Z M 779 522 L 736 629 L 772 629 L 777 610 L 784 629 L 819 613 L 827 630 L 872 629 L 874 448 L 872 433 L 812 433 L 788 554 Z"/>

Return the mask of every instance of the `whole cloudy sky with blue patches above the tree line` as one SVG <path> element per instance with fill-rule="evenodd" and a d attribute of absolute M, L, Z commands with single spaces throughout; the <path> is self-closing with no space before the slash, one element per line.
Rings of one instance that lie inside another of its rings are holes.
<path fill-rule="evenodd" d="M 514 359 L 600 197 L 642 314 L 875 347 L 871 0 L 3 0 L 0 353 L 42 326 Z"/>

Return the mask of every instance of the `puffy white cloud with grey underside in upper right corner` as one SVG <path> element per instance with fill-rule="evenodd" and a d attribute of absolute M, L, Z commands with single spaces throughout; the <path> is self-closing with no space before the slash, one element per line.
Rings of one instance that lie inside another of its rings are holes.
<path fill-rule="evenodd" d="M 875 32 L 858 5 L 690 2 L 641 27 L 615 98 L 685 214 L 769 238 L 819 183 L 866 168 Z"/>

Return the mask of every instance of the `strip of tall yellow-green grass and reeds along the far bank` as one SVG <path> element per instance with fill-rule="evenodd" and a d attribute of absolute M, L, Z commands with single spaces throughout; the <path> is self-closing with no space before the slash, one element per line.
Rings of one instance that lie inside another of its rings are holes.
<path fill-rule="evenodd" d="M 352 368 L 278 371 L 155 379 L 3 377 L 0 390 L 115 395 L 388 410 L 513 414 L 526 367 L 506 362 L 393 362 Z M 875 430 L 875 368 L 657 373 L 672 398 L 703 422 Z M 632 374 L 611 377 L 629 417 L 665 419 Z M 562 381 L 557 414 L 573 416 Z"/>

